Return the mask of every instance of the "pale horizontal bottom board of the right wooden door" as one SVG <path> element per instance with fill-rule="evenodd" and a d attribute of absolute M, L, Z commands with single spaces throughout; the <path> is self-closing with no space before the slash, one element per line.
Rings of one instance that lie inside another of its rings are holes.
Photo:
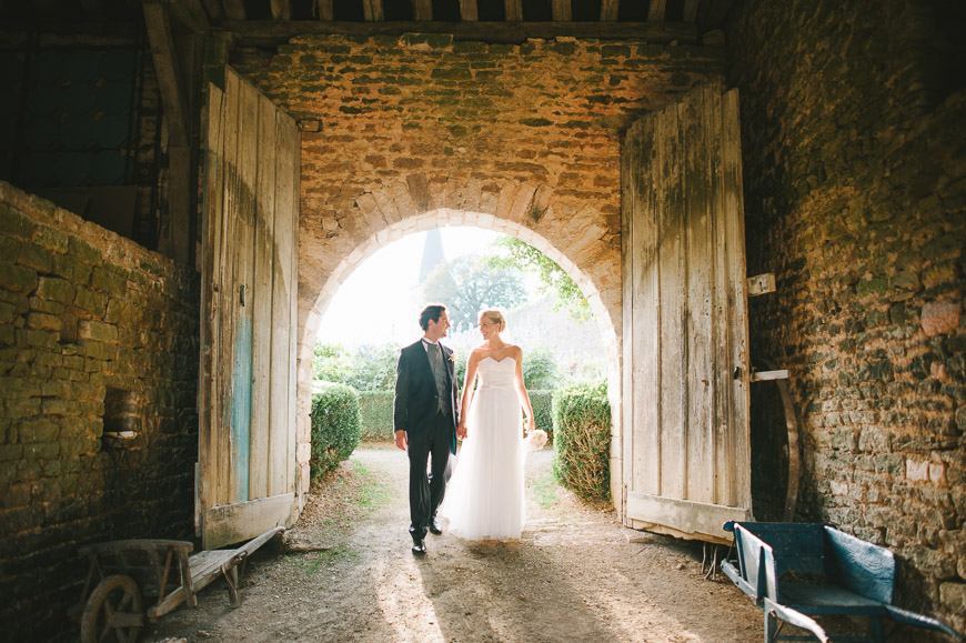
<path fill-rule="evenodd" d="M 723 539 L 726 543 L 732 537 L 722 525 L 727 521 L 744 522 L 751 518 L 747 509 L 628 492 L 627 512 L 632 511 L 653 521 L 648 529 L 663 525 L 685 535 L 691 534 L 691 537 Z"/>

